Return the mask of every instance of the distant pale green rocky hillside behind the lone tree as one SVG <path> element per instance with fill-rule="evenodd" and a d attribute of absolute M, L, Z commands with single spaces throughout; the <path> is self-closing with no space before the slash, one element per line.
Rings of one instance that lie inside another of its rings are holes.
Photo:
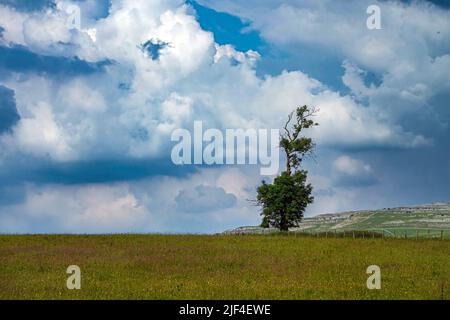
<path fill-rule="evenodd" d="M 350 211 L 305 218 L 297 232 L 382 231 L 387 233 L 450 230 L 450 203 Z M 241 227 L 225 233 L 270 233 L 274 229 Z"/>

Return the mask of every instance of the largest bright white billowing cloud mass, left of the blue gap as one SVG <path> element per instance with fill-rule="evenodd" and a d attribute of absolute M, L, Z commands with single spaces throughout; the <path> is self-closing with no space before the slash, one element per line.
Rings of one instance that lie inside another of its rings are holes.
<path fill-rule="evenodd" d="M 170 144 L 170 132 L 194 119 L 220 128 L 279 128 L 300 103 L 320 109 L 322 127 L 315 136 L 322 144 L 414 146 L 426 141 L 391 126 L 376 112 L 300 71 L 258 78 L 254 70 L 258 53 L 216 45 L 212 34 L 200 28 L 180 1 L 115 2 L 107 18 L 90 26 L 96 30 L 95 42 L 81 37 L 82 31 L 67 31 L 64 13 L 59 11 L 20 15 L 26 21 L 21 32 L 15 25 L 4 26 L 11 42 L 24 41 L 48 54 L 60 42 L 72 41 L 76 45 L 67 49 L 71 54 L 114 61 L 103 75 L 62 82 L 29 76 L 5 82 L 16 92 L 22 117 L 11 139 L 24 153 L 41 150 L 54 160 L 119 154 L 160 157 Z M 40 21 L 50 24 L 53 33 L 33 26 L 27 29 L 27 24 Z M 140 49 L 152 39 L 167 43 L 159 59 Z M 127 89 L 121 90 L 121 85 Z M 48 107 L 35 108 L 36 104 Z M 47 134 L 33 131 L 40 125 Z"/>

